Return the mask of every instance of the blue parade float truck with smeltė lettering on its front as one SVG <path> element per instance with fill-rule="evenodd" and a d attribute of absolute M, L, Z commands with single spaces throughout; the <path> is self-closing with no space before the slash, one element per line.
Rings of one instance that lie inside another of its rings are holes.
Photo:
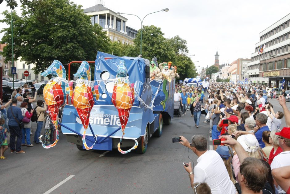
<path fill-rule="evenodd" d="M 112 103 L 116 75 L 122 62 L 126 65 L 127 79 L 134 84 L 135 92 L 123 137 L 118 110 Z M 175 79 L 150 80 L 149 71 L 147 59 L 97 53 L 92 83 L 94 86 L 98 85 L 99 98 L 94 100 L 89 116 L 89 129 L 85 133 L 86 144 L 93 145 L 93 150 L 116 149 L 122 138 L 122 150 L 130 149 L 138 142 L 135 150 L 143 154 L 150 138 L 160 137 L 163 124 L 170 124 L 173 117 Z M 85 150 L 82 139 L 84 127 L 69 99 L 63 108 L 59 124 L 67 141 L 76 144 L 79 150 Z"/>

